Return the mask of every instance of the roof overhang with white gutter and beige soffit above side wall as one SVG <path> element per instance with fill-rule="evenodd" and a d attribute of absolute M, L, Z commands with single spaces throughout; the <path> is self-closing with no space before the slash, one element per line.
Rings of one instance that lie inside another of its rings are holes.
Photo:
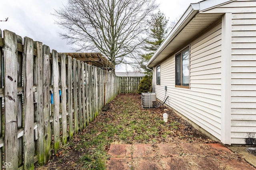
<path fill-rule="evenodd" d="M 166 39 L 156 50 L 146 66 L 156 66 L 163 59 L 174 53 L 178 48 L 188 45 L 186 44 L 189 43 L 188 41 L 222 16 L 222 14 L 203 14 L 201 13 L 203 10 L 209 10 L 210 8 L 215 8 L 216 6 L 232 1 L 234 0 L 204 0 L 190 4 L 186 12 L 169 32 Z M 207 19 L 200 20 L 202 17 L 206 17 Z"/>

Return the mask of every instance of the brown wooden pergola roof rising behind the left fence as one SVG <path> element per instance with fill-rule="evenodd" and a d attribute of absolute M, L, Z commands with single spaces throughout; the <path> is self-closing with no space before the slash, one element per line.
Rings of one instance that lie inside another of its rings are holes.
<path fill-rule="evenodd" d="M 102 53 L 63 53 L 69 55 L 72 58 L 75 58 L 80 61 L 84 61 L 87 64 L 92 66 L 97 66 L 104 70 L 114 70 L 115 66 L 112 64 Z"/>

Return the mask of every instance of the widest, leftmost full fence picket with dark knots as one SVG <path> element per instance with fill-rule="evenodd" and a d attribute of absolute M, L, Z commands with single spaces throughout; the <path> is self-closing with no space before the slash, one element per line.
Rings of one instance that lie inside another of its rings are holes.
<path fill-rule="evenodd" d="M 11 162 L 12 168 L 18 169 L 17 37 L 8 30 L 4 30 L 4 57 L 4 161 Z"/>

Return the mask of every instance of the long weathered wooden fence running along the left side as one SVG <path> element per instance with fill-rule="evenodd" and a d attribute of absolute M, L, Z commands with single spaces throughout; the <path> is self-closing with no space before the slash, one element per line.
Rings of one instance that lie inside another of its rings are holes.
<path fill-rule="evenodd" d="M 28 37 L 3 37 L 0 30 L 0 166 L 33 169 L 97 116 L 120 80 Z"/>

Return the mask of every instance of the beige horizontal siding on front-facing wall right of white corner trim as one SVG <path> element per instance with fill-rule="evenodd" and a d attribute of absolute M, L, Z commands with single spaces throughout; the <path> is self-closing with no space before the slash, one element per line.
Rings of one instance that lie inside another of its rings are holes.
<path fill-rule="evenodd" d="M 256 138 L 256 0 L 236 0 L 203 13 L 232 13 L 231 143 Z"/>

